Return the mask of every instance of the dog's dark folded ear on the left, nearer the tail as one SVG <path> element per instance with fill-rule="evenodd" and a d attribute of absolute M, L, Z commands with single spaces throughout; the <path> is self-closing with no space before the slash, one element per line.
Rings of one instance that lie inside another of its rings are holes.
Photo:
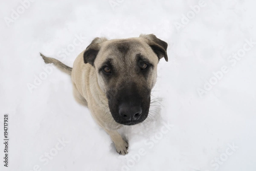
<path fill-rule="evenodd" d="M 100 49 L 100 43 L 107 41 L 106 38 L 95 38 L 92 43 L 84 51 L 84 64 L 91 64 L 94 66 L 94 60 L 98 55 Z"/>

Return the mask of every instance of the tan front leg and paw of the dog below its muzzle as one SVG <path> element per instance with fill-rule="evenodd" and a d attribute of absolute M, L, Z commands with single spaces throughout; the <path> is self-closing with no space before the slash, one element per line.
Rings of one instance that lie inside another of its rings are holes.
<path fill-rule="evenodd" d="M 116 152 L 122 155 L 128 154 L 128 143 L 122 138 L 122 136 L 116 130 L 106 130 L 110 135 L 112 141 L 115 144 Z"/>

